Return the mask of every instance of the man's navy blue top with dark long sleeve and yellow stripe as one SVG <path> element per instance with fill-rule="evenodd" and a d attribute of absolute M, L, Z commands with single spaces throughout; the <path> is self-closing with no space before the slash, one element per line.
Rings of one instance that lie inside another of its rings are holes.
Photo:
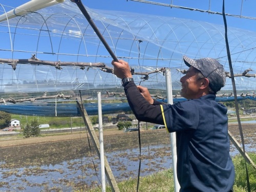
<path fill-rule="evenodd" d="M 151 105 L 133 82 L 124 90 L 138 120 L 165 124 L 168 132 L 176 132 L 180 191 L 232 189 L 234 167 L 229 155 L 227 109 L 215 101 L 215 95 L 172 105 Z"/>

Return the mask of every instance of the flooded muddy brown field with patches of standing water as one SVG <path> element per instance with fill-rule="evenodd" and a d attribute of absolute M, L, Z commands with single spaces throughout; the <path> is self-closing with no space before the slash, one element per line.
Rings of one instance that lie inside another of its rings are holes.
<path fill-rule="evenodd" d="M 229 131 L 240 141 L 237 125 Z M 255 125 L 243 125 L 247 152 L 256 152 Z M 169 134 L 141 132 L 140 176 L 172 166 Z M 104 137 L 105 156 L 117 181 L 136 178 L 139 168 L 138 132 Z M 100 164 L 87 139 L 0 148 L 0 191 L 72 191 L 100 185 Z M 231 145 L 230 154 L 238 154 Z"/>

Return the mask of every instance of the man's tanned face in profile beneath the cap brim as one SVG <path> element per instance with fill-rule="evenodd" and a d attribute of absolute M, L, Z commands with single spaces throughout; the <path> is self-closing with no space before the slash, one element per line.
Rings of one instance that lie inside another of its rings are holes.
<path fill-rule="evenodd" d="M 201 87 L 201 81 L 197 81 L 196 75 L 197 69 L 190 67 L 187 70 L 185 76 L 181 77 L 181 96 L 186 99 L 196 99 L 198 98 L 198 93 Z"/>

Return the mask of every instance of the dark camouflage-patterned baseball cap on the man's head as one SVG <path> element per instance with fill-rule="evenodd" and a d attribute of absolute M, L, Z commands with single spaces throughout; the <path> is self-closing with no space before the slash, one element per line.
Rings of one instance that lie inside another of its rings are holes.
<path fill-rule="evenodd" d="M 188 67 L 193 66 L 209 79 L 209 86 L 212 91 L 218 92 L 225 86 L 226 73 L 223 66 L 216 59 L 202 58 L 194 60 L 184 55 L 183 60 Z"/>

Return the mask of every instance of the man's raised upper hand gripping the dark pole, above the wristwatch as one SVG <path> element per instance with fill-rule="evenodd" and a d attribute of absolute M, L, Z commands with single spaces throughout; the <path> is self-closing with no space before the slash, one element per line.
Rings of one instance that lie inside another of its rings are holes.
<path fill-rule="evenodd" d="M 119 60 L 119 62 L 112 61 L 112 65 L 114 66 L 114 74 L 120 78 L 133 77 L 131 73 L 131 69 L 129 64 L 124 60 Z"/>

